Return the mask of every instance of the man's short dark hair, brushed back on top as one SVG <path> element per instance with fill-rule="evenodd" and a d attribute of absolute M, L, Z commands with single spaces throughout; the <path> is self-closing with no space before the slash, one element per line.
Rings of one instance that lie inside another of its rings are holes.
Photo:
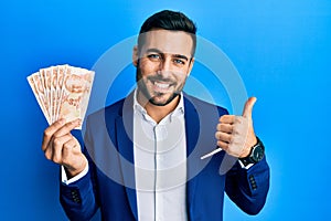
<path fill-rule="evenodd" d="M 149 17 L 140 28 L 138 36 L 138 49 L 143 44 L 142 33 L 148 31 L 164 29 L 170 31 L 183 31 L 190 33 L 193 40 L 192 56 L 194 56 L 196 48 L 196 25 L 184 13 L 163 10 Z"/>

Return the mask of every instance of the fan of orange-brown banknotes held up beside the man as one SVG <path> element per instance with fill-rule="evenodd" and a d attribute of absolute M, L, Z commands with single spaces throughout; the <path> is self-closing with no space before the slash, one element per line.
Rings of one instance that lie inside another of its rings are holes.
<path fill-rule="evenodd" d="M 86 69 L 56 65 L 41 69 L 28 76 L 28 82 L 47 123 L 85 117 L 94 72 Z M 82 126 L 76 129 L 81 129 Z"/>

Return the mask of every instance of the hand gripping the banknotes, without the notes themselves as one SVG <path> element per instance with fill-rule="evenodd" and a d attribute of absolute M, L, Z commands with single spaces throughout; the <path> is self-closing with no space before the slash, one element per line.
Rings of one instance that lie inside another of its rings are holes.
<path fill-rule="evenodd" d="M 68 179 L 83 171 L 87 164 L 78 140 L 71 134 L 81 124 L 81 119 L 68 123 L 60 119 L 44 130 L 42 150 L 49 160 L 64 166 Z"/>

